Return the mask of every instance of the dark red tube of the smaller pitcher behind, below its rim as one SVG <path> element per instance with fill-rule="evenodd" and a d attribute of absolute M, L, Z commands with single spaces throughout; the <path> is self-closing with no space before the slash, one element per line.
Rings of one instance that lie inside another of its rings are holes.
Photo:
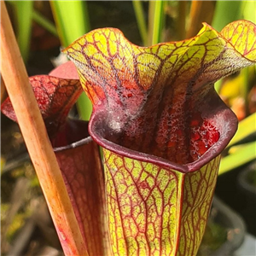
<path fill-rule="evenodd" d="M 98 146 L 91 140 L 84 141 L 79 146 L 57 150 L 55 155 L 89 255 L 109 256 L 107 209 Z"/>

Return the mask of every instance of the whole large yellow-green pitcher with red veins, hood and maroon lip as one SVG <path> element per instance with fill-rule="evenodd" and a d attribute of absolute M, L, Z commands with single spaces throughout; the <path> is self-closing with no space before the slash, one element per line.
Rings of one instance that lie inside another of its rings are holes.
<path fill-rule="evenodd" d="M 64 49 L 93 102 L 89 131 L 104 149 L 113 255 L 195 255 L 219 154 L 236 132 L 213 83 L 255 64 L 256 26 L 139 47 L 103 28 Z"/>

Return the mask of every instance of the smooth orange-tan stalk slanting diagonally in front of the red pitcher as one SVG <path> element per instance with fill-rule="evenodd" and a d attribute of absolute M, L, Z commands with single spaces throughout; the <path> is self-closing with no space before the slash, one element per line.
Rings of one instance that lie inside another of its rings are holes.
<path fill-rule="evenodd" d="M 0 9 L 1 73 L 61 245 L 66 255 L 88 255 L 3 0 Z"/>

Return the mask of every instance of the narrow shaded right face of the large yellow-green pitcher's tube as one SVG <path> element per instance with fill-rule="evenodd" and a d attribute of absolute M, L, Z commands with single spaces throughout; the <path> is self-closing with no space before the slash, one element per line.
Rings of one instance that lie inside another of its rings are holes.
<path fill-rule="evenodd" d="M 181 230 L 177 255 L 196 255 L 207 224 L 212 205 L 220 156 L 203 166 L 198 172 L 185 174 Z"/>

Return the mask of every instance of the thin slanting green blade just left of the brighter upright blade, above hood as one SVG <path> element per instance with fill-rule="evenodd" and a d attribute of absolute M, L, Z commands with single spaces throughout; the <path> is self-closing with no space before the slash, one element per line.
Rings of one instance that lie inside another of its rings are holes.
<path fill-rule="evenodd" d="M 143 3 L 141 0 L 132 0 L 132 4 L 137 19 L 137 26 L 143 39 L 143 45 L 147 45 L 148 32 L 143 13 Z"/>

